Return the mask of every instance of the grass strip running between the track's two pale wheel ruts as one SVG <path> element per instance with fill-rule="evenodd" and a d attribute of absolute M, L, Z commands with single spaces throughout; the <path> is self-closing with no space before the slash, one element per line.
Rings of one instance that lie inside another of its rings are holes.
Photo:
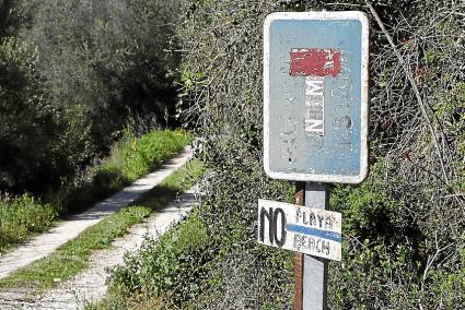
<path fill-rule="evenodd" d="M 133 204 L 88 228 L 51 255 L 0 279 L 0 290 L 27 287 L 31 294 L 38 294 L 54 287 L 58 281 L 71 278 L 88 265 L 92 251 L 111 247 L 112 241 L 125 235 L 132 225 L 167 205 L 179 191 L 189 189 L 202 172 L 204 167 L 197 160 L 179 168 Z"/>

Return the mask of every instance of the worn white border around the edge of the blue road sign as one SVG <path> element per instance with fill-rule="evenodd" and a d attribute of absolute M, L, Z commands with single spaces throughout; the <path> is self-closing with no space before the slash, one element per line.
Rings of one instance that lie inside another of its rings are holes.
<path fill-rule="evenodd" d="M 278 20 L 357 20 L 362 24 L 362 48 L 361 48 L 361 152 L 360 152 L 360 174 L 357 176 L 344 175 L 310 175 L 295 172 L 276 172 L 269 166 L 269 48 L 270 28 L 274 21 Z M 276 12 L 269 14 L 264 22 L 264 168 L 267 176 L 274 179 L 284 179 L 293 181 L 316 181 L 335 183 L 360 183 L 369 172 L 368 165 L 368 131 L 369 131 L 369 21 L 363 12 L 340 11 L 340 12 Z"/>

